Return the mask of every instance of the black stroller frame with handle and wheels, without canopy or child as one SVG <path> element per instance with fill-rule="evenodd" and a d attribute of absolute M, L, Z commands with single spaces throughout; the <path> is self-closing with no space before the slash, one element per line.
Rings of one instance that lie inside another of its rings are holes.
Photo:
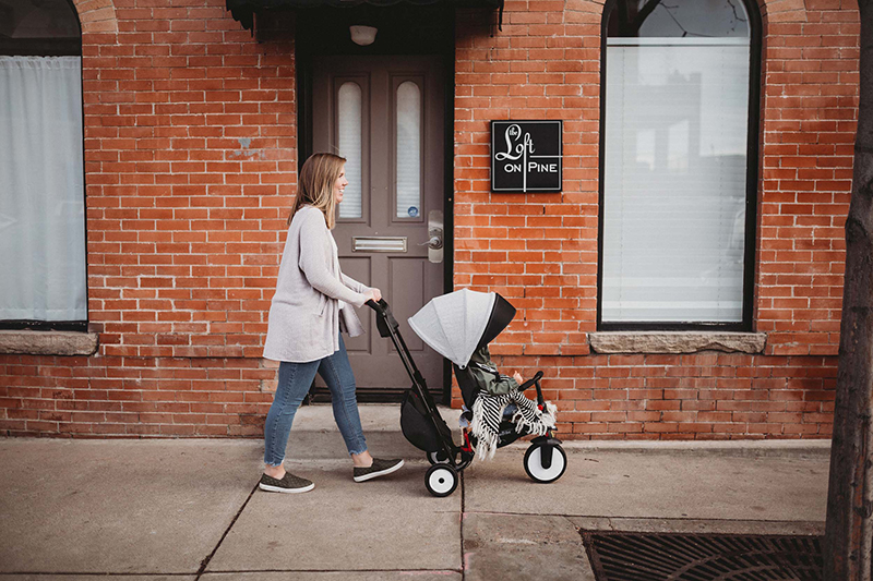
<path fill-rule="evenodd" d="M 367 305 L 376 313 L 379 335 L 383 338 L 391 338 L 394 342 L 400 361 L 412 380 L 412 386 L 406 391 L 400 404 L 400 426 L 404 436 L 414 446 L 427 452 L 431 467 L 424 477 L 424 485 L 433 496 L 449 496 L 457 488 L 461 472 L 473 462 L 476 455 L 475 437 L 468 431 L 464 431 L 464 443 L 461 446 L 455 444 L 452 429 L 436 409 L 433 396 L 428 390 L 427 382 L 418 371 L 412 355 L 406 347 L 406 341 L 399 332 L 399 324 L 394 318 L 391 307 L 384 300 L 368 301 Z M 453 368 L 458 378 L 465 404 L 473 409 L 478 387 L 474 385 L 464 370 L 454 364 Z M 541 378 L 542 372 L 537 372 L 533 378 L 522 384 L 518 390 L 524 391 L 536 386 L 537 403 L 540 409 L 543 409 L 546 400 L 542 397 Z M 500 424 L 498 448 L 512 444 L 526 435 L 529 435 L 527 429 L 517 432 L 515 425 L 504 415 L 503 422 Z M 558 458 L 555 458 L 555 453 Z M 527 475 L 538 483 L 554 482 L 563 475 L 566 469 L 566 453 L 561 448 L 561 440 L 554 437 L 553 429 L 550 429 L 545 436 L 538 436 L 530 440 L 530 447 L 525 453 L 524 468 Z"/>

